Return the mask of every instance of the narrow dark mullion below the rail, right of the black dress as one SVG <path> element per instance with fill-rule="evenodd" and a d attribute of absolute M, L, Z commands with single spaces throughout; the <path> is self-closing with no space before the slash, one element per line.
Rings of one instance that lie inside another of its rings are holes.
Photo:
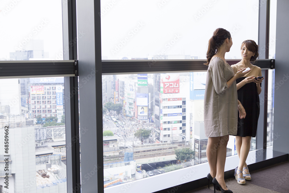
<path fill-rule="evenodd" d="M 263 133 L 263 149 L 267 148 L 267 118 L 268 118 L 268 70 L 265 70 L 265 76 L 263 80 L 264 87 L 264 133 Z"/>

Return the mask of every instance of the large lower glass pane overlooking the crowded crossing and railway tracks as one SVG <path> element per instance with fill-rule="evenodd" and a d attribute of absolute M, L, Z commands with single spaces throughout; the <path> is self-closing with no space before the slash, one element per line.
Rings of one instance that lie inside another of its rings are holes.
<path fill-rule="evenodd" d="M 180 168 L 207 162 L 203 151 L 206 150 L 208 138 L 201 132 L 204 129 L 203 103 L 206 72 L 145 75 L 146 85 L 138 85 L 137 74 L 102 76 L 102 83 L 105 85 L 103 87 L 105 96 L 103 98 L 103 109 L 105 109 L 103 132 L 112 135 L 103 137 L 103 142 L 109 142 L 108 145 L 103 145 L 105 184 L 119 178 L 125 183 L 134 179 L 150 177 L 149 171 L 153 175 L 167 172 L 170 171 L 170 164 L 175 165 L 175 168 Z M 177 88 L 171 88 L 171 93 L 165 93 L 164 85 L 170 81 L 164 81 L 164 77 L 168 75 L 179 85 Z M 123 85 L 123 87 L 111 89 L 112 82 Z M 128 100 L 134 104 L 131 108 Z M 153 102 L 149 103 L 149 101 Z M 156 103 L 155 101 L 160 102 Z M 120 106 L 120 111 L 113 110 L 116 106 Z M 183 112 L 190 116 L 186 116 Z M 118 120 L 110 120 L 111 116 L 118 117 Z M 120 128 L 126 129 L 121 130 Z M 147 134 L 141 134 L 144 132 Z M 255 138 L 252 138 L 251 150 L 255 148 L 255 141 Z M 140 156 L 142 145 L 148 147 L 147 155 L 144 157 Z M 162 152 L 166 146 L 169 148 L 172 145 L 173 150 L 169 153 Z M 180 146 L 181 150 L 190 148 L 195 152 L 195 156 L 189 157 L 186 161 L 178 161 L 175 149 Z M 127 147 L 125 151 L 124 147 Z M 196 149 L 195 147 L 200 148 Z M 156 149 L 162 149 L 158 155 L 154 154 Z M 235 155 L 234 150 L 235 137 L 230 136 L 227 156 Z M 134 152 L 134 155 L 132 156 L 130 152 Z M 122 161 L 119 161 L 120 157 Z M 127 161 L 130 164 L 125 168 Z M 139 167 L 138 164 L 142 164 L 142 166 Z M 125 175 L 119 176 L 115 167 L 122 167 Z"/>

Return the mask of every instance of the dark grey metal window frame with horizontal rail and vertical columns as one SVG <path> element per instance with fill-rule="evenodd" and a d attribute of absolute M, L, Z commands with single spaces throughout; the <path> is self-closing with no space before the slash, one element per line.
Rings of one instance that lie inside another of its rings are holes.
<path fill-rule="evenodd" d="M 92 4 L 89 4 L 92 3 Z M 264 59 L 259 59 L 257 61 L 257 66 L 261 67 L 263 70 L 275 69 L 275 60 L 268 59 L 268 38 L 269 38 L 269 1 L 266 1 L 266 6 L 259 6 L 259 38 L 258 42 L 260 47 L 265 47 L 264 49 Z M 259 1 L 259 5 L 261 0 Z M 203 65 L 204 60 L 125 60 L 125 61 L 116 61 L 116 60 L 103 60 L 101 61 L 101 23 L 98 13 L 101 11 L 100 0 L 94 2 L 78 2 L 78 8 L 80 10 L 79 15 L 81 19 L 84 18 L 81 14 L 84 14 L 83 5 L 92 6 L 94 10 L 94 21 L 85 21 L 91 22 L 94 25 L 93 34 L 87 34 L 91 39 L 94 40 L 93 47 L 95 49 L 95 60 L 92 61 L 92 64 L 95 65 L 95 70 L 100 75 L 108 74 L 121 74 L 121 73 L 162 73 L 162 72 L 184 72 L 184 71 L 204 71 L 207 69 L 207 66 Z M 68 47 L 68 52 L 64 54 L 64 60 L 62 61 L 0 61 L 0 78 L 33 78 L 33 77 L 53 77 L 53 76 L 65 76 L 64 77 L 64 89 L 66 99 L 66 116 L 65 123 L 66 128 L 71 128 L 66 130 L 66 144 L 71 144 L 71 148 L 66 151 L 67 158 L 67 187 L 68 192 L 80 192 L 80 157 L 79 157 L 79 115 L 78 115 L 78 60 L 77 60 L 77 29 L 76 29 L 76 0 L 72 1 L 62 1 L 62 16 L 63 16 L 63 45 L 64 49 Z M 265 21 L 264 19 L 265 18 Z M 262 30 L 265 29 L 265 30 Z M 80 47 L 84 49 L 84 47 Z M 266 59 L 265 59 L 266 58 Z M 240 60 L 229 60 L 228 63 L 236 63 Z M 93 67 L 91 61 L 82 64 L 82 68 Z M 23 68 L 25 67 L 25 68 Z M 27 70 L 26 70 L 27 69 Z M 29 69 L 29 70 L 28 70 Z M 89 68 L 90 69 L 90 68 Z M 166 71 L 163 71 L 166 69 Z M 84 74 L 81 74 L 79 78 L 87 76 L 90 71 L 85 71 L 82 69 Z M 268 70 L 265 73 L 265 80 L 268 78 Z M 101 78 L 95 78 L 96 86 L 90 89 L 90 93 L 97 93 L 97 89 L 101 88 Z M 266 82 L 268 84 L 268 82 Z M 266 85 L 265 84 L 265 85 Z M 268 86 L 268 85 L 267 85 Z M 264 95 L 266 96 L 267 92 L 266 87 L 264 89 Z M 84 90 L 83 90 L 84 91 Z M 96 94 L 96 98 L 101 98 Z M 265 104 L 267 104 L 267 98 L 265 98 Z M 84 99 L 79 99 L 81 103 L 90 103 L 90 101 L 85 101 Z M 96 106 L 100 106 L 101 100 L 95 102 Z M 101 104 L 102 105 L 102 104 Z M 100 108 L 101 109 L 101 108 Z M 256 138 L 257 147 L 262 144 L 262 148 L 266 149 L 266 120 L 267 120 L 267 109 L 264 109 L 264 130 L 262 132 L 263 141 L 260 140 L 260 136 Z M 100 114 L 101 110 L 95 110 L 96 113 Z M 266 114 L 265 114 L 266 113 Z M 80 119 L 81 121 L 81 119 Z M 97 117 L 96 127 L 102 127 L 102 116 Z M 91 123 L 88 123 L 91 124 Z M 85 125 L 85 123 L 84 123 Z M 102 141 L 102 130 L 96 132 L 96 146 L 89 147 L 95 149 L 98 155 L 101 155 L 103 152 L 103 141 Z M 86 139 L 88 135 L 82 135 L 83 139 Z M 258 140 L 257 140 L 258 139 Z M 262 142 L 262 143 L 260 143 Z M 83 148 L 86 147 L 84 144 Z M 83 168 L 94 168 L 96 165 L 95 162 L 89 160 L 85 157 L 83 159 L 84 163 Z M 101 161 L 102 160 L 102 161 Z M 97 175 L 91 180 L 97 179 L 97 183 L 86 183 L 82 185 L 82 190 L 98 190 L 98 192 L 104 192 L 103 189 L 103 157 L 97 156 Z M 82 174 L 84 177 L 84 174 Z M 102 176 L 101 176 L 102 175 Z"/>

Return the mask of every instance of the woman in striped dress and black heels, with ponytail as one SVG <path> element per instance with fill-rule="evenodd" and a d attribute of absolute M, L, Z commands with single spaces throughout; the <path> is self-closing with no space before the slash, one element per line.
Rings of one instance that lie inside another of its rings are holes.
<path fill-rule="evenodd" d="M 208 137 L 207 158 L 210 166 L 208 180 L 222 192 L 230 193 L 224 180 L 227 143 L 229 135 L 237 134 L 238 110 L 240 118 L 246 112 L 238 101 L 236 79 L 244 76 L 241 69 L 236 74 L 225 60 L 232 46 L 230 32 L 223 28 L 214 31 L 209 40 L 208 71 L 204 98 L 204 128 Z M 248 71 L 247 71 L 248 72 Z M 246 72 L 246 73 L 247 73 Z"/>

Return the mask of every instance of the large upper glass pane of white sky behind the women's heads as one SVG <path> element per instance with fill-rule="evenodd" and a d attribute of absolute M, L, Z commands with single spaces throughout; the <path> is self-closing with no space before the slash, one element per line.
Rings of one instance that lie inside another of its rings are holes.
<path fill-rule="evenodd" d="M 218 27 L 228 30 L 233 38 L 226 59 L 240 58 L 240 46 L 246 39 L 258 44 L 259 0 L 246 3 L 148 0 L 145 5 L 126 1 L 113 4 L 107 11 L 109 3 L 101 0 L 103 60 L 205 59 L 208 40 Z M 250 21 L 250 30 L 244 21 Z"/>

